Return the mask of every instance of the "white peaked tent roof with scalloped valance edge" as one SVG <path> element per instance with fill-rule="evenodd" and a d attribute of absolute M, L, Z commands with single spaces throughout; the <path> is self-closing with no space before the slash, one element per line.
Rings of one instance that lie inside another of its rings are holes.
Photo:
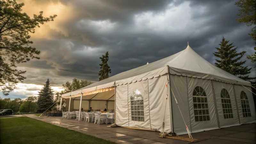
<path fill-rule="evenodd" d="M 81 94 L 81 92 L 86 93 L 115 85 L 129 84 L 131 82 L 162 76 L 166 73 L 251 86 L 250 82 L 244 81 L 212 65 L 188 46 L 185 50 L 169 57 L 111 76 L 74 92 L 65 93 L 62 97 L 69 98 L 69 95 L 72 97 L 73 95 Z"/>

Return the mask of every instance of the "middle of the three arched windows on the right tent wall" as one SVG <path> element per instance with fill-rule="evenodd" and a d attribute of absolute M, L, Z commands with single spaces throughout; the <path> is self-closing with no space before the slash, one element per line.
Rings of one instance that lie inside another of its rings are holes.
<path fill-rule="evenodd" d="M 233 118 L 233 111 L 228 91 L 226 89 L 222 89 L 220 92 L 220 97 L 224 119 Z"/>

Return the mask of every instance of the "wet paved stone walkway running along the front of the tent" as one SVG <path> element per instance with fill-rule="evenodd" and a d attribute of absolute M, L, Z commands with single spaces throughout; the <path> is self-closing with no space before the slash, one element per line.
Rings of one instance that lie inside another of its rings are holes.
<path fill-rule="evenodd" d="M 38 117 L 33 114 L 25 116 L 122 144 L 191 143 L 181 140 L 159 138 L 160 132 L 143 131 L 122 127 L 108 128 L 107 126 L 109 124 L 96 125 L 94 123 L 78 121 L 75 119 L 61 119 L 61 117 Z M 195 144 L 256 144 L 256 123 L 233 126 L 220 130 L 193 133 L 192 136 L 193 138 L 198 139 L 197 141 L 193 142 Z M 188 137 L 188 135 L 181 135 L 181 137 Z"/>

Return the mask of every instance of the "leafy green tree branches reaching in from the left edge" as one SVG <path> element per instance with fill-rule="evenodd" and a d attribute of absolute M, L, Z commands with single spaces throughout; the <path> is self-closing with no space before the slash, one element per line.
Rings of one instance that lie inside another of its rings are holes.
<path fill-rule="evenodd" d="M 53 21 L 57 15 L 43 17 L 43 12 L 30 18 L 22 12 L 24 3 L 18 4 L 15 0 L 0 0 L 0 87 L 4 95 L 14 90 L 15 85 L 26 77 L 26 71 L 17 70 L 16 64 L 27 62 L 30 59 L 39 59 L 35 56 L 40 53 L 33 44 L 29 33 L 35 33 L 35 28 L 48 21 Z M 8 59 L 8 62 L 6 62 Z M 8 83 L 7 85 L 5 83 Z"/>

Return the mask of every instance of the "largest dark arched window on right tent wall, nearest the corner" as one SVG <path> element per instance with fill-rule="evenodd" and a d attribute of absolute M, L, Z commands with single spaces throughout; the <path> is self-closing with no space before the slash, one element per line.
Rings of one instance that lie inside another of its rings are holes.
<path fill-rule="evenodd" d="M 204 89 L 196 86 L 193 91 L 193 104 L 196 122 L 209 121 L 209 109 Z"/>

